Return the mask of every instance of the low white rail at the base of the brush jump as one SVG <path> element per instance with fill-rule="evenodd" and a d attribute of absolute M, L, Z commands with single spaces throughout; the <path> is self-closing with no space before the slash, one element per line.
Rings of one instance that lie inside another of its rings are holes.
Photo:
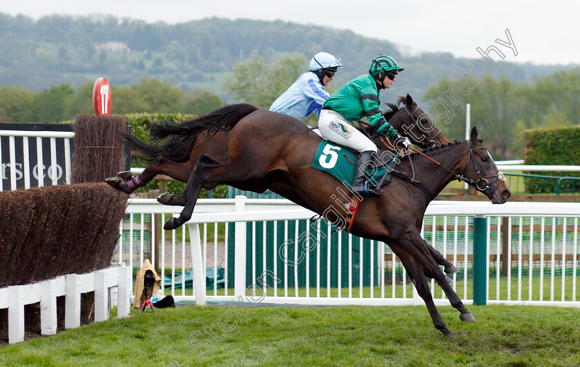
<path fill-rule="evenodd" d="M 81 293 L 95 292 L 95 321 L 109 318 L 117 306 L 117 317 L 131 313 L 131 268 L 111 266 L 87 274 L 67 274 L 35 284 L 0 288 L 0 309 L 8 308 L 8 342 L 24 340 L 24 306 L 40 303 L 41 335 L 57 333 L 57 297 L 65 297 L 64 327 L 81 325 Z M 117 301 L 110 293 L 117 289 Z"/>

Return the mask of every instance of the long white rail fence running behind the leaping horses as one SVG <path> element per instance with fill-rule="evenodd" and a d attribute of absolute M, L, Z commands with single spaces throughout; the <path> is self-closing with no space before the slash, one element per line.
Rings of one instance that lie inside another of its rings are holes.
<path fill-rule="evenodd" d="M 262 288 L 267 296 L 260 299 L 272 304 L 421 303 L 387 244 L 331 233 L 326 221 L 300 227 L 314 213 L 289 201 L 200 199 L 191 220 L 167 231 L 155 244 L 156 227 L 144 218 L 159 216 L 164 223 L 180 210 L 160 206 L 154 199 L 131 200 L 129 223 L 120 228 L 124 233 L 117 253 L 119 261 L 133 268 L 145 258 L 158 264 L 164 292 L 177 301 L 235 301 L 253 286 Z M 426 214 L 423 236 L 461 270 L 452 276 L 453 286 L 466 304 L 472 303 L 474 291 L 472 222 L 474 217 L 483 217 L 488 304 L 580 306 L 580 204 L 476 202 L 466 206 L 437 201 Z M 305 245 L 305 239 L 316 246 Z M 157 248 L 160 259 L 155 260 L 157 251 L 152 248 Z M 510 255 L 503 255 L 505 251 Z M 191 256 L 187 259 L 186 255 Z M 508 263 L 507 274 L 502 273 L 503 261 Z M 220 264 L 224 264 L 224 288 L 214 281 L 206 290 L 206 268 L 215 270 Z M 186 289 L 189 269 L 193 290 Z M 437 304 L 448 304 L 434 281 L 432 295 Z"/>

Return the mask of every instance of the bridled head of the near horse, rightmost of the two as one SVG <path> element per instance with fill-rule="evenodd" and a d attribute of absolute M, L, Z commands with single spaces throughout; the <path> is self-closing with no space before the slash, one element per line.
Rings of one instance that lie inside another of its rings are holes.
<path fill-rule="evenodd" d="M 467 158 L 461 177 L 489 197 L 493 204 L 503 204 L 512 195 L 503 173 L 499 172 L 492 155 L 483 146 L 483 140 L 478 139 L 476 128 L 472 128 L 467 140 Z"/>

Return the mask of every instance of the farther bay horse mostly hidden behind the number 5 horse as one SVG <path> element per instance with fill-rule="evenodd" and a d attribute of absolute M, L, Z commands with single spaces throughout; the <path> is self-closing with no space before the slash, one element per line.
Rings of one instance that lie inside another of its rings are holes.
<path fill-rule="evenodd" d="M 435 123 L 421 110 L 413 98 L 398 97 L 395 103 L 386 103 L 389 110 L 383 112 L 383 117 L 403 137 L 408 137 L 412 143 L 421 148 L 441 146 L 449 143 L 447 138 L 438 130 Z M 137 151 L 143 152 L 148 157 L 153 157 L 153 162 L 147 166 L 142 175 L 133 178 L 131 171 L 119 172 L 117 177 L 107 179 L 110 186 L 131 194 L 134 190 L 144 186 L 157 175 L 166 175 L 177 181 L 187 182 L 193 172 L 197 159 L 202 155 L 208 155 L 216 161 L 226 161 L 229 158 L 229 145 L 227 135 L 233 126 L 223 121 L 237 123 L 242 117 L 255 112 L 258 108 L 249 105 L 233 105 L 215 111 L 209 115 L 186 121 L 180 125 L 172 123 L 155 124 L 151 128 L 154 140 L 160 141 L 166 137 L 173 137 L 164 147 L 151 146 L 131 135 L 126 135 L 128 142 Z M 294 121 L 296 123 L 296 121 Z M 376 129 L 369 128 L 368 124 L 359 121 L 360 128 L 367 137 L 373 140 L 377 146 L 383 145 L 380 134 Z M 289 187 L 287 187 L 289 186 Z M 284 181 L 278 181 L 269 187 L 296 204 L 307 209 L 310 208 L 307 201 L 295 195 L 293 187 Z M 180 197 L 173 197 L 169 193 L 162 194 L 158 201 L 166 205 L 184 206 L 186 202 L 185 192 Z M 170 229 L 169 226 L 164 227 Z M 450 261 L 445 259 L 441 252 L 429 246 L 434 259 L 438 264 L 445 267 L 447 274 L 459 272 Z M 448 279 L 448 281 L 451 281 Z"/>

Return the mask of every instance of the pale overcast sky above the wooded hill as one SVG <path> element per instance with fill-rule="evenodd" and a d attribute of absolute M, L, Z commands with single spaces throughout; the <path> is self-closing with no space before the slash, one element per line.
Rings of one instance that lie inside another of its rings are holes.
<path fill-rule="evenodd" d="M 502 46 L 505 61 L 580 63 L 580 1 L 0 0 L 0 12 L 34 19 L 112 14 L 171 24 L 207 17 L 280 19 L 349 29 L 387 39 L 407 52 L 442 51 L 469 58 L 481 57 L 478 47 L 498 46 L 496 39 L 508 42 L 508 29 L 517 55 Z"/>

